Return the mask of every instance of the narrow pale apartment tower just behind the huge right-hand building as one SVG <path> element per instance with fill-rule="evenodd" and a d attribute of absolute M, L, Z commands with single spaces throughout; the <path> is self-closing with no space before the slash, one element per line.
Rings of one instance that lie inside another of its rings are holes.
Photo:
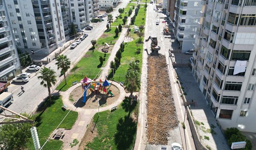
<path fill-rule="evenodd" d="M 197 22 L 202 10 L 201 0 L 177 0 L 174 10 L 173 32 L 182 52 L 193 50 L 196 36 Z"/>

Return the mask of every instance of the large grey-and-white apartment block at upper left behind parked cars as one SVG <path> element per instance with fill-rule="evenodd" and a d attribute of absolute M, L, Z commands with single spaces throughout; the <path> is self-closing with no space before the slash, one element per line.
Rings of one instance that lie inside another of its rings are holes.
<path fill-rule="evenodd" d="M 16 46 L 47 56 L 69 37 L 64 0 L 5 1 Z"/>

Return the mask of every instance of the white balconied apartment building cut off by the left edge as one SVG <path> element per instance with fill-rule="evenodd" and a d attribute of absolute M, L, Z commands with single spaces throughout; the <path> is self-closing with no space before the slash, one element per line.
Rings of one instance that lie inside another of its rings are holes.
<path fill-rule="evenodd" d="M 21 73 L 20 61 L 4 0 L 0 0 L 0 80 L 10 80 Z"/>

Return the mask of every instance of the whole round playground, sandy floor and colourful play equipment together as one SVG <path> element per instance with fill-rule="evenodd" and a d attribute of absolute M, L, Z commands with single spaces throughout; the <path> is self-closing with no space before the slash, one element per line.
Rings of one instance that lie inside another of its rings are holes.
<path fill-rule="evenodd" d="M 79 99 L 75 104 L 79 108 L 95 109 L 98 108 L 98 105 L 105 107 L 113 104 L 120 96 L 118 88 L 108 80 L 97 82 L 85 76 L 78 84 L 80 86 L 75 88 L 70 95 L 72 95 L 72 99 Z M 85 92 L 84 89 L 86 89 Z"/>

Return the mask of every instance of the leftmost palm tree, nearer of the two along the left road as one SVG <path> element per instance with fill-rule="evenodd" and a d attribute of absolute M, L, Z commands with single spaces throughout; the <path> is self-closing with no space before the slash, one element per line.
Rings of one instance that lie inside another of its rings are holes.
<path fill-rule="evenodd" d="M 41 76 L 38 76 L 38 79 L 42 80 L 40 84 L 48 88 L 49 100 L 52 101 L 50 88 L 52 87 L 52 84 L 56 84 L 56 76 L 54 75 L 55 71 L 50 68 L 44 67 L 42 68 L 42 70 L 40 70 L 39 73 L 41 74 Z"/>

